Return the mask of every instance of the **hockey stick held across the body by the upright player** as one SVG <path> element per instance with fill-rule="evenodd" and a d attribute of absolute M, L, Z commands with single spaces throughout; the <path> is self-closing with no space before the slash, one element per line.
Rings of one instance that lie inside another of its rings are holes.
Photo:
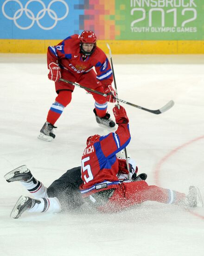
<path fill-rule="evenodd" d="M 83 88 L 83 89 L 85 89 L 85 90 L 87 90 L 87 91 L 89 91 L 89 92 L 92 92 L 92 93 L 95 93 L 95 94 L 100 94 L 100 95 L 102 95 L 102 96 L 104 96 L 104 97 L 107 97 L 107 96 L 108 96 L 108 94 L 104 94 L 104 93 L 98 92 L 98 91 L 96 91 L 96 90 L 94 90 L 94 89 L 91 89 L 91 88 L 82 86 L 82 85 L 80 85 L 80 84 L 77 84 L 77 83 L 74 83 L 74 82 L 65 80 L 65 79 L 63 79 L 63 78 L 60 78 L 59 80 L 65 82 L 65 83 L 72 84 L 72 85 L 74 85 L 74 86 L 76 86 L 76 87 Z M 167 110 L 169 110 L 170 108 L 172 108 L 173 105 L 174 105 L 174 102 L 173 102 L 173 101 L 169 101 L 169 102 L 166 103 L 166 105 L 163 106 L 162 108 L 159 108 L 159 109 L 157 109 L 157 110 L 151 110 L 151 109 L 148 109 L 148 108 L 140 107 L 140 106 L 135 105 L 135 104 L 133 104 L 133 103 L 130 103 L 130 102 L 128 102 L 128 101 L 124 101 L 124 100 L 120 100 L 120 99 L 118 99 L 118 101 L 119 101 L 119 102 L 122 102 L 122 103 L 124 103 L 124 104 L 130 105 L 130 106 L 132 106 L 132 107 L 140 108 L 140 109 L 142 109 L 142 110 L 151 112 L 151 113 L 156 114 L 156 115 L 166 112 Z"/>

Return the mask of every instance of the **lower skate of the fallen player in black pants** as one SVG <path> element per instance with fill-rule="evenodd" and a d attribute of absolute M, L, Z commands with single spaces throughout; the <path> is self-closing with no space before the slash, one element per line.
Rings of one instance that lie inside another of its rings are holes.
<path fill-rule="evenodd" d="M 10 217 L 18 219 L 23 212 L 25 212 L 27 209 L 31 209 L 36 203 L 40 204 L 40 200 L 21 195 L 13 207 Z"/>

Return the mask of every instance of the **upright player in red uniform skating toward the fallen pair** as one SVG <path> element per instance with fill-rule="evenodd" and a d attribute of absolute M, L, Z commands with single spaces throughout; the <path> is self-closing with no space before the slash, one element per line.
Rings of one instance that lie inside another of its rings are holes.
<path fill-rule="evenodd" d="M 71 35 L 57 46 L 48 47 L 47 65 L 50 71 L 48 78 L 55 81 L 58 95 L 48 112 L 47 121 L 40 130 L 39 139 L 52 141 L 55 138 L 53 133 L 53 128 L 56 128 L 55 122 L 71 101 L 74 86 L 59 81 L 61 77 L 108 94 L 104 97 L 91 92 L 95 100 L 94 114 L 100 126 L 115 128 L 115 122 L 107 113 L 108 101 L 115 102 L 115 90 L 111 86 L 112 70 L 107 56 L 96 46 L 96 35 L 93 31 Z"/>

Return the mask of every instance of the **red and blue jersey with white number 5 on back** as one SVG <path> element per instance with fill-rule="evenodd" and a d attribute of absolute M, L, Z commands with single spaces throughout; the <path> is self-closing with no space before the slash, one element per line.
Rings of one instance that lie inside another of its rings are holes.
<path fill-rule="evenodd" d="M 116 154 L 128 145 L 130 139 L 129 125 L 123 123 L 115 133 L 101 136 L 85 148 L 81 166 L 83 184 L 80 186 L 83 196 L 115 188 L 120 183 Z"/>

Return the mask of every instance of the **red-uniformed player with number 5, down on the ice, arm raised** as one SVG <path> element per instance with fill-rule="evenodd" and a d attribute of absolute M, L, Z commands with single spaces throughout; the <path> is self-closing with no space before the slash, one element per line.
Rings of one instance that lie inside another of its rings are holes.
<path fill-rule="evenodd" d="M 145 178 L 138 182 L 121 182 L 118 179 L 119 161 L 116 153 L 130 141 L 128 117 L 120 106 L 113 108 L 118 129 L 106 136 L 93 135 L 87 139 L 82 156 L 81 193 L 90 204 L 103 212 L 117 212 L 145 201 L 197 206 L 199 190 L 191 186 L 189 195 L 157 186 L 149 186 Z M 132 165 L 135 169 L 135 165 Z M 128 172 L 127 172 L 128 174 Z"/>

